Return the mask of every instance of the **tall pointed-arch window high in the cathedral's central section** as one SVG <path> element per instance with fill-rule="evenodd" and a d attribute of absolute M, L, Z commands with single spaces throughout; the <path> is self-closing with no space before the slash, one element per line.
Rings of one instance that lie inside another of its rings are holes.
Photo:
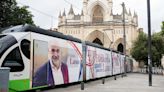
<path fill-rule="evenodd" d="M 102 8 L 99 5 L 95 6 L 92 21 L 94 23 L 103 22 L 103 12 L 102 12 Z"/>

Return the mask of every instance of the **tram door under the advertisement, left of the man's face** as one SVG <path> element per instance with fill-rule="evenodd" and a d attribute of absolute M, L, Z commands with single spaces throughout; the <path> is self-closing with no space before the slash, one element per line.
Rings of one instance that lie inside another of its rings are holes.
<path fill-rule="evenodd" d="M 48 66 L 46 69 L 42 67 L 48 62 L 48 42 L 41 40 L 34 40 L 34 56 L 33 56 L 33 87 L 47 85 L 48 79 Z M 44 72 L 42 74 L 41 72 Z M 42 76 L 42 77 L 39 77 Z"/>

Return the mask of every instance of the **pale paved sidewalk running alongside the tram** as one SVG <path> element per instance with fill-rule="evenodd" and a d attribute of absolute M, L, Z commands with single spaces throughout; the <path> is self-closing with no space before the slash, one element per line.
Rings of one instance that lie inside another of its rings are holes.
<path fill-rule="evenodd" d="M 127 77 L 106 78 L 85 84 L 85 89 L 80 89 L 80 84 L 65 88 L 50 89 L 43 92 L 164 92 L 164 76 L 153 75 L 152 86 L 148 86 L 147 74 L 128 74 Z"/>

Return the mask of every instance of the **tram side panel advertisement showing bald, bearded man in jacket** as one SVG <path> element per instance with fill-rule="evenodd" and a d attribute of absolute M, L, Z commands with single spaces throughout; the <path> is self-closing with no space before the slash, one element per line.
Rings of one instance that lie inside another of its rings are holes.
<path fill-rule="evenodd" d="M 32 33 L 32 88 L 78 82 L 82 80 L 82 45 L 65 39 Z M 58 53 L 57 57 L 53 56 Z M 61 63 L 55 67 L 55 60 Z"/>

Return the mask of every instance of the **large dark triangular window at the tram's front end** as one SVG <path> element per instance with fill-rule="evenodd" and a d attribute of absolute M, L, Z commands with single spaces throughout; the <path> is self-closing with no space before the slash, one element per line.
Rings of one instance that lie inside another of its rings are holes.
<path fill-rule="evenodd" d="M 9 67 L 10 72 L 19 72 L 24 69 L 23 60 L 18 47 L 7 55 L 2 63 L 2 67 Z"/>

